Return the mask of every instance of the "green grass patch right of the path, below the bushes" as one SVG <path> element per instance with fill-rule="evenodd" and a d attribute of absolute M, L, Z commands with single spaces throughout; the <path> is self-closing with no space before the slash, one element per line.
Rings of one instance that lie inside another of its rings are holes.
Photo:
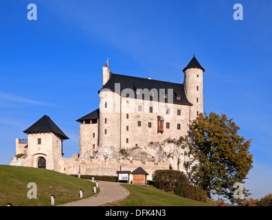
<path fill-rule="evenodd" d="M 130 195 L 121 201 L 107 203 L 105 206 L 214 206 L 209 203 L 185 199 L 170 192 L 164 192 L 154 186 L 122 184 Z"/>

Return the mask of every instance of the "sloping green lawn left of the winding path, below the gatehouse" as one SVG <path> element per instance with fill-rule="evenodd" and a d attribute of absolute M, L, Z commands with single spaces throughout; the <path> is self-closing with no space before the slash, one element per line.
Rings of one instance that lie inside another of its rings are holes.
<path fill-rule="evenodd" d="M 28 199 L 27 184 L 37 186 L 37 199 Z M 0 206 L 51 206 L 53 194 L 55 206 L 79 200 L 79 190 L 83 190 L 83 199 L 95 195 L 94 183 L 63 173 L 41 168 L 0 165 Z M 98 191 L 97 191 L 98 192 Z"/>

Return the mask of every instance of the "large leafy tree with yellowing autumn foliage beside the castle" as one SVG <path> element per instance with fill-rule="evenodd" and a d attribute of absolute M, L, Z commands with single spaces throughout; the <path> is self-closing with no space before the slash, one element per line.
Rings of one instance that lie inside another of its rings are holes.
<path fill-rule="evenodd" d="M 205 190 L 209 198 L 221 195 L 231 202 L 240 201 L 234 198 L 235 190 L 240 190 L 240 196 L 250 195 L 245 188 L 234 188 L 235 183 L 245 183 L 253 167 L 251 140 L 238 135 L 239 130 L 233 119 L 224 114 L 201 113 L 190 124 L 189 135 L 181 138 L 189 142 L 190 154 L 197 161 L 192 165 L 194 177 L 190 180 Z"/>

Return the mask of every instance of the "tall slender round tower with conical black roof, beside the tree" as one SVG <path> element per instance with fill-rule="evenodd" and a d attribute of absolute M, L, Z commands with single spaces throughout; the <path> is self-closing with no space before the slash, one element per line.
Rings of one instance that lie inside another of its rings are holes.
<path fill-rule="evenodd" d="M 190 63 L 183 69 L 184 90 L 186 97 L 193 104 L 190 109 L 190 119 L 194 120 L 203 113 L 203 73 L 205 69 L 201 67 L 199 61 L 194 56 Z"/>

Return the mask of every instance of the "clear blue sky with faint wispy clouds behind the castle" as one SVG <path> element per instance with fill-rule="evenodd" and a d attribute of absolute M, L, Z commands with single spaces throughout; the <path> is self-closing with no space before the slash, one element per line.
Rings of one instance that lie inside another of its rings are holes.
<path fill-rule="evenodd" d="M 27 19 L 36 3 L 37 21 Z M 234 4 L 243 20 L 233 18 Z M 225 113 L 253 138 L 253 198 L 272 192 L 272 2 L 21 1 L 0 3 L 0 164 L 15 138 L 49 115 L 78 153 L 78 118 L 98 108 L 102 66 L 115 74 L 183 83 L 193 54 L 205 68 L 204 111 Z"/>

